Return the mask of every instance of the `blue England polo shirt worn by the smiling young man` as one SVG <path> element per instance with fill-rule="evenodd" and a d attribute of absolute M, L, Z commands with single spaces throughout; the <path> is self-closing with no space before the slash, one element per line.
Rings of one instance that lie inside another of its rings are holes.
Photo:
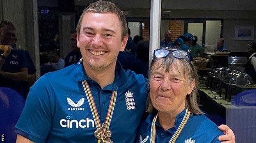
<path fill-rule="evenodd" d="M 115 69 L 114 82 L 103 89 L 85 74 L 82 63 L 39 78 L 30 88 L 25 107 L 15 126 L 16 133 L 37 143 L 96 143 L 96 125 L 82 80 L 87 80 L 89 84 L 101 124 L 105 122 L 112 91 L 117 90 L 110 123 L 111 139 L 114 143 L 133 143 L 145 112 L 147 80 L 133 71 L 122 69 L 119 63 Z M 126 100 L 128 93 L 132 97 Z M 72 107 L 67 98 L 76 105 L 83 99 L 84 103 Z M 133 105 L 128 106 L 132 101 Z"/>

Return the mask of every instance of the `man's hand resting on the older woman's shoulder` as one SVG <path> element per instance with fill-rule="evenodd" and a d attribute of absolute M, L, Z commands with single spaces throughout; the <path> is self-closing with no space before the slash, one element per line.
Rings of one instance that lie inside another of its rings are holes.
<path fill-rule="evenodd" d="M 218 128 L 225 134 L 219 136 L 219 141 L 222 141 L 221 143 L 235 143 L 234 132 L 227 125 L 220 125 Z"/>

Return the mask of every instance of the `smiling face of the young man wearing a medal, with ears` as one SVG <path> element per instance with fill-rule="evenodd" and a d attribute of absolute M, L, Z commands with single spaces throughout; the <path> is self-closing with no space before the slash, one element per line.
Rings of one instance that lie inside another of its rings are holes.
<path fill-rule="evenodd" d="M 128 35 L 121 38 L 121 22 L 114 13 L 85 13 L 77 47 L 83 62 L 89 68 L 98 70 L 115 66 L 119 51 L 123 51 Z"/>

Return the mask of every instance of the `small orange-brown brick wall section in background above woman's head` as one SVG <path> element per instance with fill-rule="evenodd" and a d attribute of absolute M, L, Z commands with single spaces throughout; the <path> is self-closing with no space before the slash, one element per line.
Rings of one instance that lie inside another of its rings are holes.
<path fill-rule="evenodd" d="M 172 40 L 175 40 L 178 36 L 181 35 L 181 20 L 170 20 L 169 29 L 172 32 Z"/>

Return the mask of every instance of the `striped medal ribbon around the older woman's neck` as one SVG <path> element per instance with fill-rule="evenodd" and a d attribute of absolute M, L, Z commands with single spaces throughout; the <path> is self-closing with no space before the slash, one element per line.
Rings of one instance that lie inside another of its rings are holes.
<path fill-rule="evenodd" d="M 156 114 L 155 117 L 153 118 L 153 122 L 151 125 L 150 143 L 155 143 L 155 136 L 156 136 L 155 122 L 156 122 L 157 117 L 158 117 L 158 114 Z M 186 113 L 181 121 L 181 124 L 178 126 L 178 129 L 172 135 L 172 137 L 168 143 L 175 143 L 176 139 L 181 134 L 182 129 L 185 127 L 189 117 L 190 117 L 190 111 L 188 109 L 186 109 Z"/>

